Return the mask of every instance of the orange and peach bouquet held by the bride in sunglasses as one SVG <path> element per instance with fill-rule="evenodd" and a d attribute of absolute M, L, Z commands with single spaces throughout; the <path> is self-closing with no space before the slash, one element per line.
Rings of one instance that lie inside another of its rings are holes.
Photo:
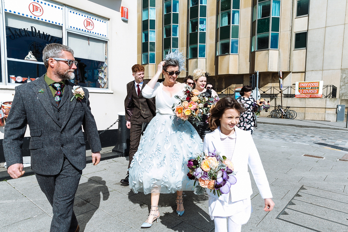
<path fill-rule="evenodd" d="M 189 118 L 202 121 L 200 116 L 207 115 L 210 107 L 216 103 L 214 98 L 208 99 L 197 89 L 192 89 L 189 86 L 185 87 L 181 96 L 176 95 L 175 98 L 179 99 L 179 102 L 173 104 L 173 111 L 178 118 L 184 121 Z"/>

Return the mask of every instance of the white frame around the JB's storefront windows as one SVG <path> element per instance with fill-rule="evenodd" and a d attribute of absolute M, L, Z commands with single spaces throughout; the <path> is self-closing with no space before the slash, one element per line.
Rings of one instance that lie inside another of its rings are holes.
<path fill-rule="evenodd" d="M 67 45 L 68 44 L 68 32 L 69 33 L 73 33 L 73 34 L 79 34 L 79 35 L 83 35 L 83 36 L 87 36 L 90 38 L 94 38 L 94 39 L 98 39 L 98 40 L 103 40 L 106 42 L 106 46 L 105 46 L 105 53 L 106 53 L 106 57 L 109 57 L 108 51 L 109 51 L 109 37 L 102 37 L 102 36 L 98 36 L 98 35 L 94 35 L 88 32 L 82 32 L 82 31 L 76 31 L 73 29 L 68 28 L 68 10 L 76 10 L 77 12 L 81 12 L 84 13 L 86 15 L 90 15 L 90 16 L 95 16 L 97 18 L 103 19 L 104 21 L 109 23 L 109 19 L 105 18 L 105 17 L 101 17 L 101 16 L 97 16 L 96 14 L 90 13 L 90 12 L 86 12 L 80 9 L 76 9 L 73 8 L 71 6 L 65 5 L 63 3 L 57 3 L 54 1 L 50 1 L 50 0 L 45 0 L 47 2 L 52 2 L 55 5 L 60 5 L 62 7 L 62 20 L 64 25 L 62 25 L 62 44 L 63 45 Z M 5 20 L 5 12 L 3 11 L 4 9 L 4 2 L 1 1 L 1 5 L 0 5 L 0 33 L 2 33 L 2 36 L 0 36 L 0 49 L 1 49 L 1 62 L 2 62 L 2 69 L 1 69 L 1 75 L 2 75 L 2 82 L 0 81 L 0 86 L 2 86 L 2 88 L 5 89 L 14 89 L 16 86 L 22 85 L 22 83 L 9 83 L 7 80 L 8 77 L 8 65 L 7 65 L 7 61 L 20 61 L 20 62 L 24 62 L 24 63 L 34 63 L 34 64 L 42 64 L 44 65 L 44 62 L 36 62 L 36 61 L 28 61 L 28 60 L 18 60 L 15 58 L 8 58 L 7 57 L 7 42 L 6 42 L 6 32 L 5 32 L 5 28 L 6 28 L 6 20 Z M 10 14 L 10 13 L 9 13 Z M 23 17 L 23 16 L 20 16 Z M 23 17 L 25 18 L 25 17 Z M 49 24 L 47 24 L 49 25 Z M 108 28 L 108 34 L 110 33 L 110 29 Z M 106 64 L 108 64 L 108 59 L 106 59 Z M 86 87 L 90 92 L 110 92 L 112 90 L 109 89 L 109 79 L 110 74 L 109 71 L 107 71 L 107 79 L 106 79 L 106 87 L 105 88 L 97 88 L 97 87 Z"/>

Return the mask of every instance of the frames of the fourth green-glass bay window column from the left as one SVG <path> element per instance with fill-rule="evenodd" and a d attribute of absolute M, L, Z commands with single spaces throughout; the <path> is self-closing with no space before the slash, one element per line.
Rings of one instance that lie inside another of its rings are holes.
<path fill-rule="evenodd" d="M 234 9 L 233 8 L 233 0 L 231 0 L 231 7 L 229 10 L 225 10 L 221 12 L 221 0 L 218 1 L 218 14 L 217 14 L 217 29 L 219 30 L 216 34 L 217 34 L 217 45 L 216 45 L 216 56 L 225 56 L 225 55 L 239 55 L 239 47 L 240 47 L 240 6 L 241 6 L 241 0 L 239 0 L 239 9 Z M 239 19 L 238 19 L 238 51 L 237 53 L 231 53 L 231 46 L 232 46 L 232 40 L 236 40 L 236 38 L 232 38 L 232 26 L 236 26 L 237 24 L 232 24 L 232 11 L 234 10 L 238 10 L 239 11 Z M 230 22 L 229 22 L 229 26 L 230 26 L 230 31 L 229 31 L 229 39 L 220 39 L 220 33 L 221 33 L 221 14 L 222 13 L 226 13 L 226 12 L 230 12 Z M 226 41 L 229 40 L 229 53 L 226 54 L 220 54 L 220 50 L 221 50 L 221 41 Z"/>

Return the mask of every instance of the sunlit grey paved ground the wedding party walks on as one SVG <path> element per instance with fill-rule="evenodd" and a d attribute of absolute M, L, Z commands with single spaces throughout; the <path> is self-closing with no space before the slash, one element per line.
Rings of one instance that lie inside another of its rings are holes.
<path fill-rule="evenodd" d="M 306 128 L 308 131 L 303 131 L 303 129 L 260 124 L 254 131 L 254 142 L 259 150 L 276 206 L 268 213 L 262 210 L 263 199 L 254 179 L 251 178 L 253 213 L 249 222 L 242 226 L 243 232 L 310 232 L 313 230 L 308 228 L 312 227 L 321 232 L 348 231 L 348 224 L 345 224 L 348 222 L 345 218 L 347 214 L 328 209 L 329 213 L 318 218 L 318 213 L 321 213 L 318 209 L 328 203 L 332 205 L 332 209 L 347 211 L 344 204 L 348 203 L 348 162 L 337 160 L 344 157 L 347 152 L 329 149 L 331 147 L 319 145 L 316 140 L 311 143 L 305 139 L 302 142 L 301 139 L 292 140 L 287 134 L 297 133 L 298 137 L 320 134 L 327 141 L 334 139 L 334 137 L 330 139 L 331 134 L 328 133 L 332 130 Z M 277 135 L 269 137 L 268 131 Z M 347 143 L 340 143 L 340 146 L 346 148 Z M 303 156 L 310 152 L 325 159 Z M 127 158 L 119 157 L 103 160 L 97 166 L 89 163 L 82 171 L 74 204 L 81 232 L 144 230 L 140 228 L 140 225 L 148 216 L 150 195 L 134 194 L 128 186 L 123 186 L 119 182 L 126 175 L 127 165 Z M 307 193 L 312 195 L 304 196 L 303 193 L 302 199 L 294 198 L 302 185 L 306 186 L 311 191 Z M 40 191 L 35 176 L 2 181 L 0 192 L 2 193 L 0 216 L 4 222 L 0 225 L 1 232 L 49 231 L 52 207 Z M 296 205 L 289 207 L 293 207 L 292 209 L 285 209 L 288 215 L 280 216 L 286 221 L 277 219 L 292 199 L 297 200 Z M 159 223 L 154 223 L 150 229 L 146 230 L 214 231 L 214 223 L 208 215 L 207 200 L 207 195 L 195 195 L 185 191 L 185 213 L 179 217 L 175 213 L 175 194 L 162 194 L 159 201 Z M 312 223 L 313 218 L 316 224 Z M 330 222 L 332 224 L 330 227 L 325 224 L 329 222 L 328 219 L 333 221 Z M 345 226 L 347 230 L 342 230 Z"/>

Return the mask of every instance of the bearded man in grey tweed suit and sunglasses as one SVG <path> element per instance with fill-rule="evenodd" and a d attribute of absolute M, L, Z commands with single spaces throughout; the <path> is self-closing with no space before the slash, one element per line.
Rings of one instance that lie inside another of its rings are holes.
<path fill-rule="evenodd" d="M 69 79 L 74 79 L 77 69 L 73 55 L 68 46 L 51 43 L 45 47 L 42 58 L 47 73 L 16 86 L 3 139 L 7 171 L 12 178 L 21 177 L 24 174 L 21 147 L 29 125 L 31 169 L 53 207 L 51 232 L 79 231 L 73 205 L 82 169 L 86 167 L 82 126 L 94 165 L 101 158 L 88 90 L 82 88 L 85 93 L 82 99 L 72 93 L 76 85 Z"/>

